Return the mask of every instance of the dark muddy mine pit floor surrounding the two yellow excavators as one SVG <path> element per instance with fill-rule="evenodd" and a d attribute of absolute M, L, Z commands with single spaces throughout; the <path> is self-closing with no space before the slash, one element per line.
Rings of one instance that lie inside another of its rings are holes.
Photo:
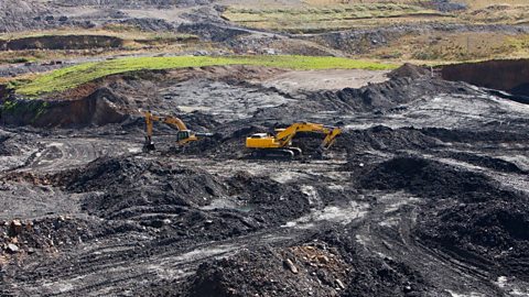
<path fill-rule="evenodd" d="M 47 128 L 4 122 L 0 295 L 529 295 L 529 106 L 414 68 L 345 89 L 277 76 L 295 81 L 116 76 L 68 94 L 97 117 L 65 117 L 63 94 Z M 143 153 L 141 108 L 216 135 L 182 151 L 156 124 Z M 247 157 L 246 135 L 299 120 L 344 134 L 323 160 L 317 135 L 293 162 Z"/>

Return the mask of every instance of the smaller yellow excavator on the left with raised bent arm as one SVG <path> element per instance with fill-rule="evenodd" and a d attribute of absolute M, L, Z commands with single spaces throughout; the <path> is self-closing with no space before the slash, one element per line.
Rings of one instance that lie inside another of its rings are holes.
<path fill-rule="evenodd" d="M 154 150 L 154 143 L 152 142 L 152 127 L 154 122 L 162 122 L 176 128 L 179 130 L 179 132 L 176 132 L 176 145 L 179 146 L 183 146 L 190 142 L 213 135 L 212 133 L 194 133 L 187 129 L 187 127 L 181 119 L 175 117 L 154 116 L 151 111 L 145 111 L 144 117 L 147 135 L 143 148 L 145 151 Z"/>

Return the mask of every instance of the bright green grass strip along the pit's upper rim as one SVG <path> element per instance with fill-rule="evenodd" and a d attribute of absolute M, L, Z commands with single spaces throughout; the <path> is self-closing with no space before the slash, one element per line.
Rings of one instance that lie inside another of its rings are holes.
<path fill-rule="evenodd" d="M 17 86 L 17 92 L 28 97 L 63 91 L 105 76 L 143 69 L 171 69 L 222 65 L 256 65 L 288 69 L 374 69 L 385 70 L 398 65 L 339 57 L 314 56 L 177 56 L 134 57 L 98 63 L 86 63 L 42 74 Z"/>

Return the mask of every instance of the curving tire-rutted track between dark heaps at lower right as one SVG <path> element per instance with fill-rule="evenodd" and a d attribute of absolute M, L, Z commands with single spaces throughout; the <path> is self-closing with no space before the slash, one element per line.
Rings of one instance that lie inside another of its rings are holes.
<path fill-rule="evenodd" d="M 364 218 L 357 241 L 370 253 L 406 263 L 425 274 L 435 287 L 443 288 L 425 296 L 456 296 L 453 293 L 461 296 L 505 296 L 505 292 L 490 282 L 487 272 L 417 241 L 412 229 L 420 209 L 420 198 L 406 193 L 368 195 L 379 197 L 380 204 L 375 205 Z"/>

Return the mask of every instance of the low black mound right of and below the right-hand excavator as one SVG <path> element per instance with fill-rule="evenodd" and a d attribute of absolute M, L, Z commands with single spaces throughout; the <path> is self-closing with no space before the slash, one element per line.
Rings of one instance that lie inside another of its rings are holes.
<path fill-rule="evenodd" d="M 457 197 L 461 201 L 516 197 L 483 174 L 414 156 L 399 156 L 375 165 L 358 183 L 369 189 L 407 190 L 425 198 Z"/>

